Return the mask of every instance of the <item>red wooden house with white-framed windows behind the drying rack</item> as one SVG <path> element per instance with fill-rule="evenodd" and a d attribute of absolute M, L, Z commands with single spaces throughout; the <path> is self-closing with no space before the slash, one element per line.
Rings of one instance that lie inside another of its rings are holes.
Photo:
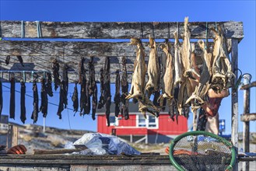
<path fill-rule="evenodd" d="M 107 120 L 103 110 L 98 111 L 97 132 L 111 134 L 112 131 L 115 131 L 118 137 L 128 141 L 145 141 L 146 143 L 169 142 L 178 134 L 188 131 L 187 118 L 179 116 L 177 123 L 176 120 L 170 119 L 167 112 L 163 112 L 160 113 L 158 118 L 147 114 L 147 119 L 145 119 L 142 113 L 138 112 L 138 104 L 134 103 L 129 104 L 128 120 L 124 120 L 124 117 L 121 115 L 114 117 L 114 104 L 112 103 L 110 107 L 111 124 L 110 127 L 107 127 Z"/>

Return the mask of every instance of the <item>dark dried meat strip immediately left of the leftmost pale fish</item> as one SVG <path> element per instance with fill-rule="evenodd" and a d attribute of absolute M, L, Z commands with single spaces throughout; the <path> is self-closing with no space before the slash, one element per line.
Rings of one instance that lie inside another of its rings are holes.
<path fill-rule="evenodd" d="M 129 100 L 125 99 L 125 96 L 128 94 L 128 81 L 127 81 L 127 69 L 126 69 L 126 58 L 122 59 L 122 75 L 121 75 L 121 114 L 124 117 L 124 120 L 129 119 Z"/>

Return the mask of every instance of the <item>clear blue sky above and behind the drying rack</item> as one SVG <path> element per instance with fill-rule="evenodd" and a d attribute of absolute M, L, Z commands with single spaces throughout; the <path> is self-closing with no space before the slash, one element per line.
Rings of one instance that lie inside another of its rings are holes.
<path fill-rule="evenodd" d="M 183 22 L 184 16 L 189 16 L 189 21 L 241 21 L 244 23 L 244 39 L 239 44 L 238 65 L 240 70 L 251 73 L 252 81 L 256 77 L 255 61 L 255 1 L 5 1 L 0 0 L 1 20 L 24 21 L 79 21 L 79 22 Z M 9 84 L 5 84 L 9 86 Z M 31 94 L 30 85 L 27 92 Z M 19 90 L 19 86 L 16 86 Z M 2 113 L 9 113 L 9 89 L 4 88 L 6 96 Z M 73 85 L 68 92 L 72 92 Z M 112 91 L 114 93 L 114 90 Z M 255 89 L 251 89 L 251 112 L 255 112 Z M 31 124 L 29 104 L 30 97 L 26 97 L 27 120 Z M 68 107 L 72 108 L 70 97 Z M 243 113 L 243 91 L 239 91 L 239 113 Z M 54 98 L 49 98 L 52 103 L 58 104 L 58 93 Z M 16 95 L 16 104 L 19 104 L 19 93 Z M 96 121 L 90 116 L 84 118 L 72 111 L 64 110 L 63 119 L 56 116 L 57 106 L 49 105 L 47 126 L 69 128 L 68 114 L 71 128 L 96 131 Z M 68 111 L 68 112 L 67 112 Z M 223 99 L 219 109 L 220 119 L 226 120 L 226 133 L 231 131 L 231 99 Z M 19 121 L 19 106 L 16 105 L 16 120 Z M 40 114 L 41 116 L 41 114 Z M 191 122 L 191 120 L 189 120 Z M 37 124 L 42 124 L 39 117 Z M 239 131 L 242 131 L 239 124 Z M 256 131 L 255 122 L 251 122 L 251 131 Z"/>

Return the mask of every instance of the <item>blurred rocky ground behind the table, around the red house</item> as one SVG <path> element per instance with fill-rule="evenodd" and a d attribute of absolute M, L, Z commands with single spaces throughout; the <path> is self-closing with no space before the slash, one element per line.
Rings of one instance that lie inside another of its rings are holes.
<path fill-rule="evenodd" d="M 58 149 L 64 148 L 68 141 L 76 141 L 81 138 L 83 134 L 92 131 L 78 131 L 78 130 L 64 130 L 55 127 L 46 127 L 46 131 L 43 132 L 43 127 L 35 124 L 27 124 L 24 126 L 17 125 L 19 127 L 19 144 L 23 144 L 28 149 L 27 154 L 32 154 L 33 149 Z M 5 132 L 0 132 L 4 134 Z M 238 146 L 240 151 L 242 148 L 241 136 Z M 129 142 L 128 142 L 129 143 Z M 170 144 L 158 143 L 158 144 L 135 144 L 129 143 L 132 147 L 139 152 L 157 152 L 160 155 L 165 155 L 165 148 Z M 250 152 L 256 152 L 256 133 L 251 134 Z M 256 170 L 256 162 L 250 162 L 251 169 Z M 242 168 L 242 162 L 239 163 L 239 170 Z"/>

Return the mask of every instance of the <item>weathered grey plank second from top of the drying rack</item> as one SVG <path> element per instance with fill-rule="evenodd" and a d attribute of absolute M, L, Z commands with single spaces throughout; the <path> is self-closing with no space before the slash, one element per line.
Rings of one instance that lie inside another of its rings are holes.
<path fill-rule="evenodd" d="M 159 44 L 157 46 L 159 47 Z M 202 51 L 197 43 L 195 54 L 201 54 Z M 143 43 L 146 56 L 149 56 L 149 43 Z M 212 49 L 213 43 L 209 43 L 209 49 Z M 171 48 L 174 53 L 174 43 Z M 159 55 L 163 51 L 158 48 Z M 0 41 L 0 55 L 6 56 L 54 56 L 55 58 L 68 58 L 69 56 L 93 56 L 93 57 L 135 57 L 136 47 L 129 45 L 128 42 L 52 42 L 52 41 Z"/>

